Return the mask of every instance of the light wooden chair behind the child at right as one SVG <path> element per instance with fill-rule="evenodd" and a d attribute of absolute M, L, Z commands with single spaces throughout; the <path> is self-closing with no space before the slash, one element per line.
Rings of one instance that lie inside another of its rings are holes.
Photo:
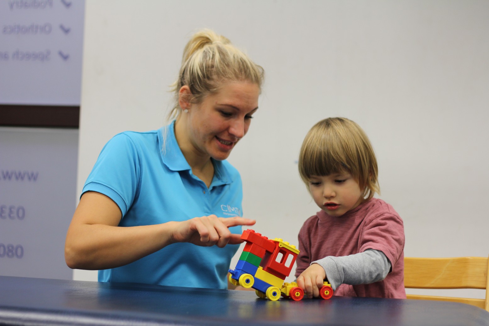
<path fill-rule="evenodd" d="M 408 294 L 408 299 L 472 304 L 489 311 L 489 258 L 404 258 L 404 287 L 417 289 L 486 289 L 486 300 Z"/>

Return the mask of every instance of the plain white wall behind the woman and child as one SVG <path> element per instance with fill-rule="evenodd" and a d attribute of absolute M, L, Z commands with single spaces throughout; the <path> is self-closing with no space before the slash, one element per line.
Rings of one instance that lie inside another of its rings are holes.
<path fill-rule="evenodd" d="M 210 27 L 267 74 L 229 158 L 257 232 L 297 243 L 318 210 L 297 173 L 302 139 L 345 116 L 374 145 L 406 256 L 487 256 L 488 12 L 484 0 L 87 0 L 78 194 L 112 135 L 165 123 L 183 46 Z"/>

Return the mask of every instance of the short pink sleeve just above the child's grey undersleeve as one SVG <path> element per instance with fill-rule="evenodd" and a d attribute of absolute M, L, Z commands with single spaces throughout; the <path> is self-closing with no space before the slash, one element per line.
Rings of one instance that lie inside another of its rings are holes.
<path fill-rule="evenodd" d="M 367 249 L 384 253 L 393 266 L 404 250 L 404 225 L 397 214 L 383 213 L 368 221 L 361 235 L 360 252 Z"/>

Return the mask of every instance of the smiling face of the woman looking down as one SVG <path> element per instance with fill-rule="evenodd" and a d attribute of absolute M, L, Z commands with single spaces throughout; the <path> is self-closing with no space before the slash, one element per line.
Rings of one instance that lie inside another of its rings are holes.
<path fill-rule="evenodd" d="M 199 156 L 224 160 L 248 131 L 258 109 L 260 88 L 249 82 L 227 82 L 188 109 L 191 150 Z"/>

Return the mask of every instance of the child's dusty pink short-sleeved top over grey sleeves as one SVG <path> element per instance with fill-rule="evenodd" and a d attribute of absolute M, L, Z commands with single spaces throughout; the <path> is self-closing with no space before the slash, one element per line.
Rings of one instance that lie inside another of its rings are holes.
<path fill-rule="evenodd" d="M 299 232 L 299 256 L 295 276 L 311 261 L 327 256 L 347 256 L 375 249 L 391 262 L 392 271 L 379 282 L 341 284 L 334 295 L 406 298 L 404 290 L 404 226 L 394 208 L 378 198 L 360 204 L 341 217 L 324 211 L 308 218 Z"/>

